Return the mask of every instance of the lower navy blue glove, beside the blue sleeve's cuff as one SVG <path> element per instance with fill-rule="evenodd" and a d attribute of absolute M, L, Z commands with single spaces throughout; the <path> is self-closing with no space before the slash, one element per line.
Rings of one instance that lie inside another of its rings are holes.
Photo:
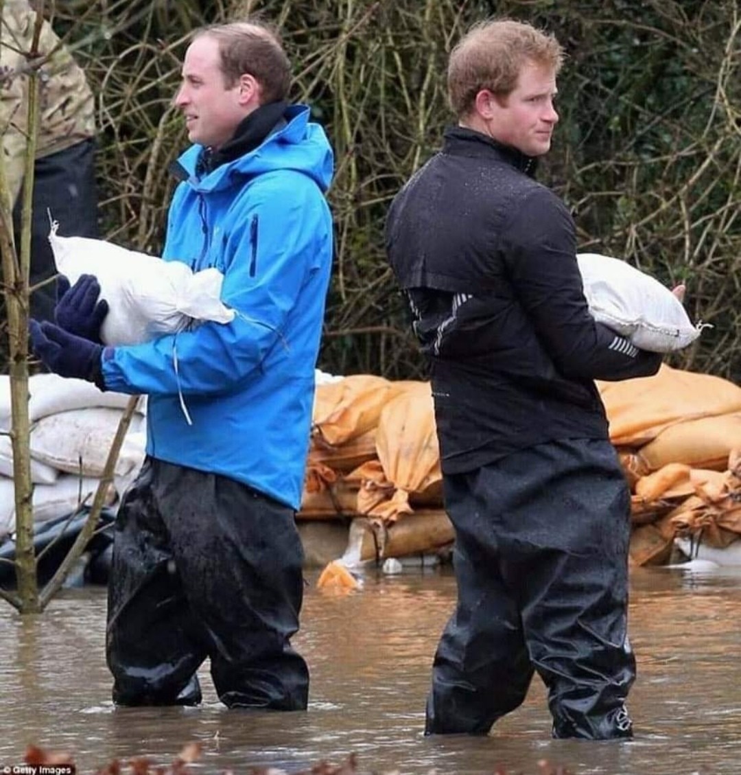
<path fill-rule="evenodd" d="M 44 366 L 60 377 L 77 377 L 105 390 L 101 358 L 103 346 L 67 333 L 49 321 L 29 321 L 31 347 Z"/>

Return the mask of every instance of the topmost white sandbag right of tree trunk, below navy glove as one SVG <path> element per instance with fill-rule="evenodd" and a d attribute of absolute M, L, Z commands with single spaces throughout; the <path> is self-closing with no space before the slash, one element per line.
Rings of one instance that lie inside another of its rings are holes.
<path fill-rule="evenodd" d="M 101 391 L 92 382 L 60 377 L 58 374 L 33 374 L 29 377 L 29 419 L 40 420 L 72 409 L 109 407 L 123 409 L 131 396 Z"/>

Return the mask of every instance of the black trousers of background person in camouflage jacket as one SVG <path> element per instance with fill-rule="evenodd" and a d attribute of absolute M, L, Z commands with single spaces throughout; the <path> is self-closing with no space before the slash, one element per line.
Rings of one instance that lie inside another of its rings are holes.
<path fill-rule="evenodd" d="M 13 229 L 20 248 L 22 195 L 13 208 Z M 49 244 L 49 216 L 59 222 L 60 236 L 98 236 L 98 193 L 95 186 L 95 141 L 36 159 L 33 170 L 31 270 L 29 283 L 43 283 L 57 274 Z M 41 285 L 31 294 L 31 316 L 54 319 L 56 283 Z"/>

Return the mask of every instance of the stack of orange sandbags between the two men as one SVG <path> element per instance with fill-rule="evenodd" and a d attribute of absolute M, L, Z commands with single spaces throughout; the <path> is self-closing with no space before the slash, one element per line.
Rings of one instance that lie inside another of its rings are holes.
<path fill-rule="evenodd" d="M 453 540 L 441 481 L 429 383 L 358 374 L 317 384 L 298 519 L 350 518 L 356 561 L 432 552 Z"/>

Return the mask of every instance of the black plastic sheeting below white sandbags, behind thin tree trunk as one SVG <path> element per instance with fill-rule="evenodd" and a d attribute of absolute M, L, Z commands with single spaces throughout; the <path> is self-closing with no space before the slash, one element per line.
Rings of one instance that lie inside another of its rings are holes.
<path fill-rule="evenodd" d="M 60 567 L 60 563 L 67 556 L 67 552 L 87 521 L 88 513 L 88 510 L 84 509 L 73 515 L 64 515 L 36 525 L 33 547 L 37 557 L 43 553 L 36 569 L 39 584 L 46 584 Z M 80 559 L 67 576 L 64 584 L 66 587 L 108 584 L 114 519 L 115 510 L 102 509 L 93 537 L 87 542 Z M 47 547 L 50 548 L 44 551 Z M 0 587 L 4 589 L 15 587 L 14 560 L 15 540 L 9 538 L 0 543 Z"/>

